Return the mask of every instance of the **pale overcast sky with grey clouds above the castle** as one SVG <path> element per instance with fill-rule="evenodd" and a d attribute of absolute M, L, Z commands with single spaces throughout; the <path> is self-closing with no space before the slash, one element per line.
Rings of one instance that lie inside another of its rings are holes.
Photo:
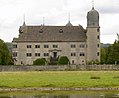
<path fill-rule="evenodd" d="M 119 33 L 119 0 L 95 0 L 100 13 L 101 42 L 113 43 Z M 0 0 L 0 38 L 11 42 L 19 35 L 24 14 L 27 25 L 66 25 L 68 13 L 73 25 L 86 28 L 92 0 Z"/>

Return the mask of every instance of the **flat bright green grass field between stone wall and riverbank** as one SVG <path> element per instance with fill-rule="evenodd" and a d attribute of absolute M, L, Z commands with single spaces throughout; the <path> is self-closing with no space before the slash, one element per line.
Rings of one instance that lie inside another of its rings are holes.
<path fill-rule="evenodd" d="M 0 87 L 119 87 L 119 71 L 0 72 Z"/>

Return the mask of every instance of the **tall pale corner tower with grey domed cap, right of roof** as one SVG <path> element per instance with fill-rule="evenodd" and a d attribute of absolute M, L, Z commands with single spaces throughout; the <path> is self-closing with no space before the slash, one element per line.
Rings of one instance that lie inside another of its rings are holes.
<path fill-rule="evenodd" d="M 87 61 L 100 62 L 99 13 L 92 7 L 87 13 Z"/>

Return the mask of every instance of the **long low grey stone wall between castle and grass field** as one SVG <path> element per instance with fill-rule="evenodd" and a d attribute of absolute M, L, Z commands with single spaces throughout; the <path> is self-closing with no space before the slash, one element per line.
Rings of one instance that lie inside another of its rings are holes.
<path fill-rule="evenodd" d="M 27 66 L 27 65 L 0 65 L 0 71 L 65 71 L 65 70 L 119 70 L 119 65 L 48 65 L 48 66 Z"/>

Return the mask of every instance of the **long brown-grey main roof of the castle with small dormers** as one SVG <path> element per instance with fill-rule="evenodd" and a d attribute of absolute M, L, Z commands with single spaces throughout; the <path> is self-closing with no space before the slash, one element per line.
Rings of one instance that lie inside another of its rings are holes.
<path fill-rule="evenodd" d="M 26 26 L 13 42 L 86 42 L 82 26 Z"/>

